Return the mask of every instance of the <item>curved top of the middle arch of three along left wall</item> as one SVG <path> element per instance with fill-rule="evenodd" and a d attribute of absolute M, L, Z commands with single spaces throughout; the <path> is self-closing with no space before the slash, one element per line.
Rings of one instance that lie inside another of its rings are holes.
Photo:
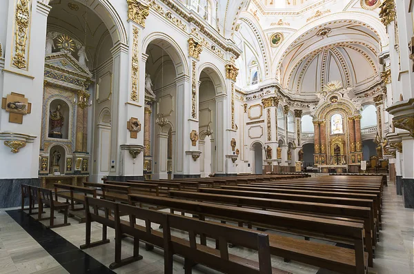
<path fill-rule="evenodd" d="M 161 32 L 152 32 L 150 35 L 144 38 L 142 42 L 142 52 L 146 52 L 146 49 L 150 43 L 159 46 L 165 50 L 175 66 L 175 73 L 177 77 L 181 75 L 189 75 L 188 63 L 186 61 L 186 55 L 181 50 L 180 46 L 175 42 L 172 37 L 161 33 Z"/>

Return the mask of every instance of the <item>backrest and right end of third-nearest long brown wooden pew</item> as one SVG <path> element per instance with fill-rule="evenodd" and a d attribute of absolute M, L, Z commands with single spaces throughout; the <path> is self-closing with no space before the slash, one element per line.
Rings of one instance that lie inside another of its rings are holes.
<path fill-rule="evenodd" d="M 185 191 L 170 191 L 170 197 L 179 199 L 193 199 L 201 202 L 218 202 L 221 204 L 233 204 L 236 206 L 253 206 L 264 209 L 282 210 L 283 212 L 315 213 L 318 215 L 338 216 L 346 218 L 357 218 L 364 220 L 366 229 L 365 245 L 373 260 L 373 244 L 376 240 L 376 227 L 374 224 L 371 207 L 346 206 L 337 204 L 322 204 L 317 202 L 287 201 L 282 199 L 266 199 L 255 197 L 241 197 L 233 195 L 220 195 L 208 193 L 190 193 Z"/>

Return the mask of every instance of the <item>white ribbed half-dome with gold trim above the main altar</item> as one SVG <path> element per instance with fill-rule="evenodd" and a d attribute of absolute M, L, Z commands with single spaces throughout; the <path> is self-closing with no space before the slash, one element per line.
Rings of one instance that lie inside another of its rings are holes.
<path fill-rule="evenodd" d="M 354 21 L 326 23 L 306 32 L 278 63 L 280 83 L 293 93 L 315 94 L 328 86 L 356 92 L 380 81 L 375 30 Z"/>

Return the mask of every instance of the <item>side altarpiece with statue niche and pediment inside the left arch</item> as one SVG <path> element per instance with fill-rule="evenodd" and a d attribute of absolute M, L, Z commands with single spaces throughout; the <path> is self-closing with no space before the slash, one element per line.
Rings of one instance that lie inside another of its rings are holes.
<path fill-rule="evenodd" d="M 47 188 L 79 184 L 90 170 L 89 99 L 80 95 L 88 93 L 92 74 L 72 55 L 54 52 L 46 55 L 44 75 L 39 177 Z"/>

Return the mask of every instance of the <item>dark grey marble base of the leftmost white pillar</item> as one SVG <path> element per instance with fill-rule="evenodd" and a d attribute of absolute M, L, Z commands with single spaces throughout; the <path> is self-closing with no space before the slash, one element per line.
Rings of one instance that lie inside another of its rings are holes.
<path fill-rule="evenodd" d="M 0 179 L 0 208 L 21 206 L 21 185 L 40 186 L 39 178 Z M 29 200 L 26 201 L 28 206 Z"/>

